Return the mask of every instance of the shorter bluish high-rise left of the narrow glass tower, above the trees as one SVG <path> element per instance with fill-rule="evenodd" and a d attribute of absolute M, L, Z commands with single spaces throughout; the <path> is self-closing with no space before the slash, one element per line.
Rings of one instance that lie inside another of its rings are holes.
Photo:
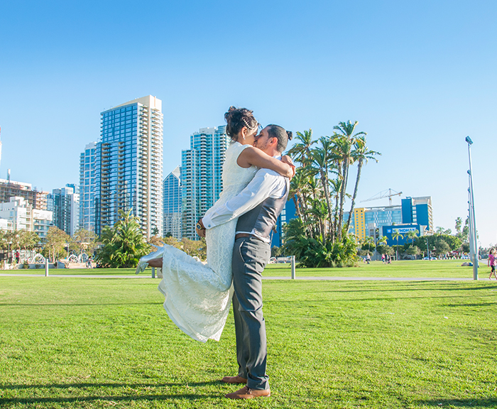
<path fill-rule="evenodd" d="M 53 212 L 53 224 L 72 236 L 80 226 L 80 194 L 76 185 L 67 184 L 52 190 L 47 199 L 48 210 Z"/>

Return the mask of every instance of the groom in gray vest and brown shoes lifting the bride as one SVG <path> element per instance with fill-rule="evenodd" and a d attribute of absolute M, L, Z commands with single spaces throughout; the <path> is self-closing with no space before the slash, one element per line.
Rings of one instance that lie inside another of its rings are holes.
<path fill-rule="evenodd" d="M 280 157 L 292 133 L 268 125 L 254 146 L 269 156 Z M 260 169 L 249 185 L 222 207 L 200 219 L 197 234 L 239 217 L 233 249 L 233 312 L 236 332 L 237 376 L 225 376 L 225 383 L 246 386 L 226 398 L 251 399 L 270 396 L 266 374 L 266 324 L 262 312 L 262 272 L 271 257 L 271 229 L 288 198 L 288 179 L 273 170 Z"/>

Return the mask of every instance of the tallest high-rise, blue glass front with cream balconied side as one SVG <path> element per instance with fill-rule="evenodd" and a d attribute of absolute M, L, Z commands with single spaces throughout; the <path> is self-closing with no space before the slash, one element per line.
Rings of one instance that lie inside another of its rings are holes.
<path fill-rule="evenodd" d="M 119 210 L 131 209 L 147 238 L 162 235 L 162 101 L 148 95 L 104 111 L 101 128 L 95 157 L 95 232 L 113 226 Z"/>

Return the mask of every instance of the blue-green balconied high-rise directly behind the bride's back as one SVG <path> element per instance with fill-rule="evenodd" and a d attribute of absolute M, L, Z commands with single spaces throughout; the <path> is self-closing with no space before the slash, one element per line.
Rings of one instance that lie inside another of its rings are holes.
<path fill-rule="evenodd" d="M 221 195 L 229 141 L 226 126 L 202 128 L 190 136 L 190 149 L 182 151 L 182 237 L 198 239 L 195 224 Z"/>

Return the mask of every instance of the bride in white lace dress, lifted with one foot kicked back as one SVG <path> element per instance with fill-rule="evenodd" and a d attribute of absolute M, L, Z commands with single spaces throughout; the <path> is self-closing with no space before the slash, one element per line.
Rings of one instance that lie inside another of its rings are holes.
<path fill-rule="evenodd" d="M 223 191 L 207 214 L 238 195 L 258 168 L 270 168 L 288 178 L 295 173 L 288 157 L 283 161 L 271 158 L 252 146 L 259 126 L 252 112 L 230 107 L 224 114 L 226 134 L 232 142 L 223 165 Z M 136 268 L 138 274 L 149 264 L 162 266 L 163 279 L 158 289 L 165 295 L 164 308 L 175 325 L 197 341 L 219 341 L 228 316 L 236 221 L 207 230 L 207 264 L 166 244 L 142 257 Z"/>

